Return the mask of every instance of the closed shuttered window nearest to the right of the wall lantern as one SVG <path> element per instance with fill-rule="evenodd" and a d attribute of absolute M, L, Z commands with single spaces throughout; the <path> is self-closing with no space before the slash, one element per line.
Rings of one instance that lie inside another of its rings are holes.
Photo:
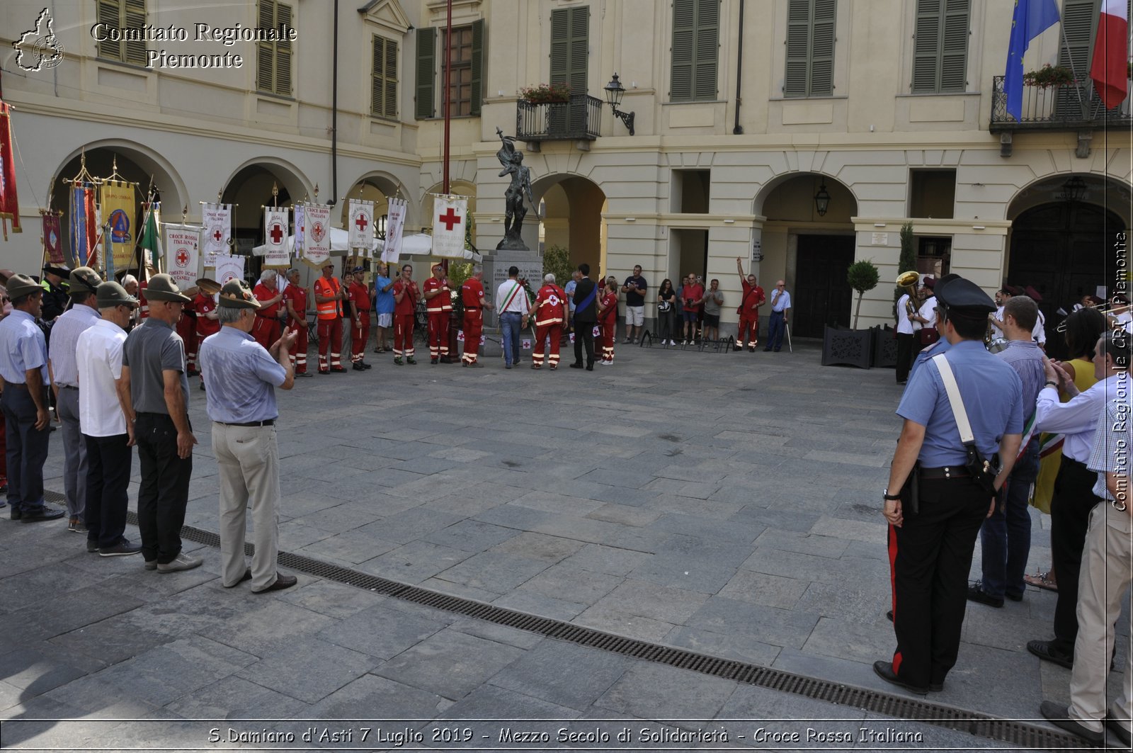
<path fill-rule="evenodd" d="M 719 0 L 673 0 L 670 99 L 716 99 L 719 51 Z"/>

